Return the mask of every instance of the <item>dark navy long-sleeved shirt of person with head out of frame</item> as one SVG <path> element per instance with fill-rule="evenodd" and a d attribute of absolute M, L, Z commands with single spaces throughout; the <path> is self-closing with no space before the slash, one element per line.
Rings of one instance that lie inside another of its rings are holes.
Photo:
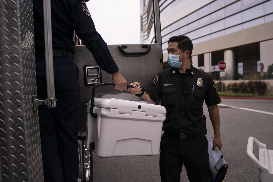
<path fill-rule="evenodd" d="M 43 0 L 33 0 L 35 49 L 44 50 Z M 119 69 L 113 60 L 107 44 L 96 31 L 94 22 L 82 0 L 51 0 L 51 24 L 53 50 L 74 51 L 73 33 L 83 40 L 92 52 L 98 65 L 107 73 Z"/>

